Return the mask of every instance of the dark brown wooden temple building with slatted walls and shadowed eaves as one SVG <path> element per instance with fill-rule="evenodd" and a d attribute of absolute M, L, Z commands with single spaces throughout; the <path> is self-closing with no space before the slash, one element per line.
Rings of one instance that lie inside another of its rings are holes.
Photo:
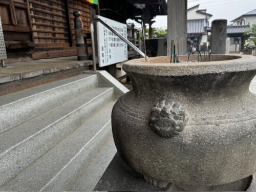
<path fill-rule="evenodd" d="M 84 33 L 89 33 L 95 14 L 122 23 L 127 18 L 150 23 L 167 9 L 165 0 L 90 1 L 0 0 L 7 63 L 76 55 L 74 10 L 81 12 Z"/>

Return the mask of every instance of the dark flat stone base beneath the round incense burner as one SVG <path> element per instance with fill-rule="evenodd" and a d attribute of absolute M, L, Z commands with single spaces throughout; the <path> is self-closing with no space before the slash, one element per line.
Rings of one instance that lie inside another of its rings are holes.
<path fill-rule="evenodd" d="M 240 188 L 240 190 L 237 190 Z M 135 173 L 117 153 L 105 173 L 94 188 L 94 191 L 182 191 L 169 184 L 166 188 L 158 188 L 144 181 L 143 176 Z M 207 188 L 191 188 L 190 191 L 256 191 L 256 174 L 225 185 L 208 186 Z"/>

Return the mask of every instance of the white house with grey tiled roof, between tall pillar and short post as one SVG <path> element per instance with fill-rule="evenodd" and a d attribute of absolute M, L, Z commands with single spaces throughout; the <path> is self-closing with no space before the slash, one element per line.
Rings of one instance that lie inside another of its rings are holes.
<path fill-rule="evenodd" d="M 209 19 L 211 14 L 206 13 L 206 9 L 199 9 L 196 5 L 187 10 L 187 49 L 193 41 L 199 39 L 200 46 L 207 42 L 207 33 L 209 30 Z"/>

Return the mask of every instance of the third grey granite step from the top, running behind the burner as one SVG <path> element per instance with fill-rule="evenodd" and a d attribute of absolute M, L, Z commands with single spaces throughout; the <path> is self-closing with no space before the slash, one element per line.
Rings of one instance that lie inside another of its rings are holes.
<path fill-rule="evenodd" d="M 92 118 L 84 122 L 58 144 L 26 167 L 16 177 L 0 187 L 3 191 L 63 191 L 70 189 L 79 176 L 84 177 L 95 163 L 104 163 L 103 157 L 111 161 L 114 156 L 108 155 L 113 147 L 111 131 L 111 111 L 114 102 L 110 102 Z M 105 150 L 108 148 L 108 150 Z M 101 160 L 99 160 L 101 158 Z M 104 165 L 103 167 L 108 166 Z M 102 166 L 101 166 L 102 167 Z M 97 170 L 94 170 L 96 172 Z M 103 172 L 104 170 L 100 170 Z M 92 180 L 100 179 L 94 173 Z"/>

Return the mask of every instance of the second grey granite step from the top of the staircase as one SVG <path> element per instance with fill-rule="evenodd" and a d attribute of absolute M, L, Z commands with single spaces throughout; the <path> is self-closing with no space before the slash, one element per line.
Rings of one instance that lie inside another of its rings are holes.
<path fill-rule="evenodd" d="M 2 133 L 0 186 L 112 101 L 113 93 L 113 88 L 93 89 Z"/>

